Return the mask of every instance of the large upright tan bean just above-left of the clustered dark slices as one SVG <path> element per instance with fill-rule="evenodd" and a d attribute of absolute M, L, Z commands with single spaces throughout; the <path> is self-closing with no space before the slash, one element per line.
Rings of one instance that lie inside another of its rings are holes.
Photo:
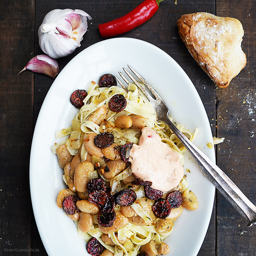
<path fill-rule="evenodd" d="M 74 174 L 74 184 L 77 191 L 86 191 L 86 184 L 88 182 L 88 171 L 94 171 L 93 164 L 88 161 L 83 161 L 76 167 L 76 171 Z"/>

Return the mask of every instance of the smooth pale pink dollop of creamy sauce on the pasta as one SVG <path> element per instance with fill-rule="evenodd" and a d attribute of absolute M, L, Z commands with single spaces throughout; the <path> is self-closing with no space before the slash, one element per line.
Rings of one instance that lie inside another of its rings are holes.
<path fill-rule="evenodd" d="M 130 162 L 136 178 L 151 181 L 151 187 L 161 191 L 169 191 L 178 186 L 184 176 L 178 154 L 148 127 L 141 129 L 138 145 L 132 146 Z"/>

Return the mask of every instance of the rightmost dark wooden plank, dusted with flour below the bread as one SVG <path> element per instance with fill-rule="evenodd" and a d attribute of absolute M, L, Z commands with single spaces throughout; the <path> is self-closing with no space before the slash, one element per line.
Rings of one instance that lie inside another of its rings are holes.
<path fill-rule="evenodd" d="M 226 89 L 217 90 L 218 165 L 255 204 L 255 1 L 217 0 L 217 15 L 239 19 L 245 30 L 242 48 L 247 66 Z M 217 254 L 255 255 L 256 228 L 245 226 L 234 208 L 217 194 Z"/>

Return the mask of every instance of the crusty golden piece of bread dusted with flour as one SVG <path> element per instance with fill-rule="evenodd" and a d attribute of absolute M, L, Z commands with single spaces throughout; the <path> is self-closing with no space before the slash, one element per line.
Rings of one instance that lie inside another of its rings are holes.
<path fill-rule="evenodd" d="M 241 49 L 244 32 L 239 20 L 192 13 L 182 15 L 177 25 L 190 54 L 217 86 L 226 88 L 245 67 L 246 55 Z"/>

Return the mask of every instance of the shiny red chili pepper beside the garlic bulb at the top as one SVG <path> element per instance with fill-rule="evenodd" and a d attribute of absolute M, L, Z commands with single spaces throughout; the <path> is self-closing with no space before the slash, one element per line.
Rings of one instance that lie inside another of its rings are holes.
<path fill-rule="evenodd" d="M 128 32 L 149 20 L 163 0 L 145 0 L 123 17 L 98 25 L 102 37 L 113 37 Z"/>

